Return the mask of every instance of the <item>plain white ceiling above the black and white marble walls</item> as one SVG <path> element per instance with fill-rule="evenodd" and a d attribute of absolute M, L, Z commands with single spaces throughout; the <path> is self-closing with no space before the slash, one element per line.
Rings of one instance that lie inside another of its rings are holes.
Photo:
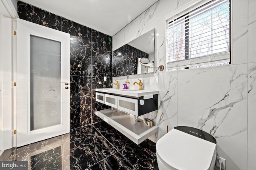
<path fill-rule="evenodd" d="M 22 0 L 113 36 L 158 0 Z"/>

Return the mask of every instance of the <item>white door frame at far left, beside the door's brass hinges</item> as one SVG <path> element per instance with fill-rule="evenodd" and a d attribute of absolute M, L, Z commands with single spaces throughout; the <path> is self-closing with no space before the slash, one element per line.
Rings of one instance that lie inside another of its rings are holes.
<path fill-rule="evenodd" d="M 11 38 L 8 37 L 8 41 L 11 41 L 11 45 L 8 47 L 11 53 L 10 59 L 6 60 L 6 58 L 2 55 L 2 50 L 0 53 L 0 64 L 1 64 L 1 71 L 0 71 L 0 77 L 1 77 L 1 109 L 0 109 L 0 155 L 4 152 L 6 149 L 10 149 L 12 147 L 16 147 L 16 135 L 14 134 L 14 129 L 16 129 L 16 90 L 14 88 L 13 82 L 16 81 L 16 37 L 13 34 L 14 30 L 16 30 L 16 18 L 19 18 L 16 7 L 14 6 L 14 3 L 17 3 L 15 1 L 9 1 L 9 0 L 0 0 L 0 8 L 5 9 L 4 16 L 7 18 L 10 18 L 11 22 L 8 25 L 5 25 L 4 28 L 8 27 L 11 32 Z M 2 12 L 2 11 L 1 11 Z M 2 17 L 2 15 L 0 15 Z M 2 18 L 0 22 L 0 31 L 2 34 Z M 5 39 L 6 40 L 6 39 Z M 3 38 L 1 38 L 1 41 L 5 41 Z M 2 49 L 2 47 L 0 47 Z M 5 84 L 8 84 L 7 87 L 2 86 L 3 82 L 3 70 L 2 66 L 8 65 L 10 67 L 9 72 L 10 74 L 8 76 L 5 76 L 4 82 Z M 10 96 L 9 101 L 3 100 L 3 93 L 6 93 L 6 96 Z M 3 110 L 2 106 L 6 106 L 7 109 Z M 4 111 L 7 110 L 6 114 L 3 114 Z"/>

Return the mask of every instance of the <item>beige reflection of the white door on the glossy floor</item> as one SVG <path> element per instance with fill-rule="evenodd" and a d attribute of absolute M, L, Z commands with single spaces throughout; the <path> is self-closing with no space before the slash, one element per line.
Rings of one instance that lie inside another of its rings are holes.
<path fill-rule="evenodd" d="M 15 148 L 8 158 L 8 161 L 28 161 L 29 170 L 69 170 L 69 160 L 69 133 Z"/>

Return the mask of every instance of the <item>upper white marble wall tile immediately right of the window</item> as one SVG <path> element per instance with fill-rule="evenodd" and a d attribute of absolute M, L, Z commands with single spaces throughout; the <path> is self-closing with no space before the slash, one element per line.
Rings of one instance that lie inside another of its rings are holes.
<path fill-rule="evenodd" d="M 248 0 L 233 0 L 232 60 L 233 64 L 248 62 Z"/>

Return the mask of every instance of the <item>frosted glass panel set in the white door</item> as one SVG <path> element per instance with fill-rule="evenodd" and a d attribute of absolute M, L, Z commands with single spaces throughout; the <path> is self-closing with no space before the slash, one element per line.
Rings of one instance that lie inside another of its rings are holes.
<path fill-rule="evenodd" d="M 60 47 L 30 35 L 30 131 L 61 124 Z"/>

